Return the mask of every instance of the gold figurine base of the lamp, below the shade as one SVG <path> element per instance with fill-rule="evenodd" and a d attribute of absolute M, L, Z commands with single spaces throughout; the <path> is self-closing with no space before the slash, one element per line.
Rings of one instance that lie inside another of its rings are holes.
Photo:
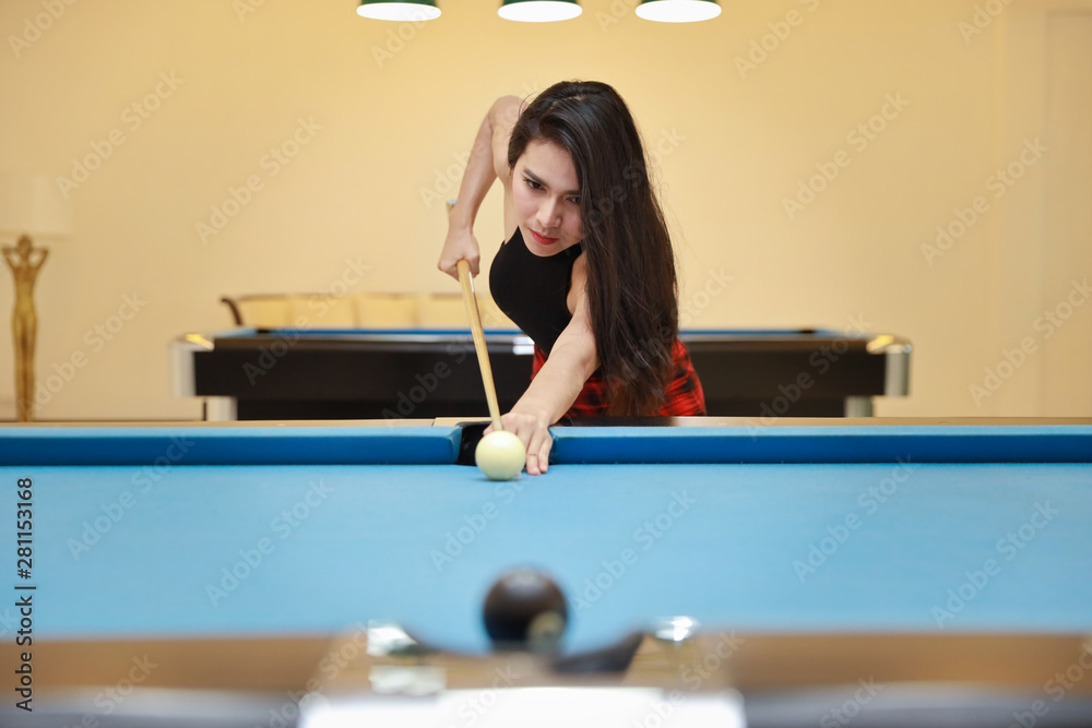
<path fill-rule="evenodd" d="M 49 251 L 34 248 L 31 238 L 24 235 L 14 248 L 3 249 L 3 256 L 15 277 L 15 309 L 11 317 L 15 333 L 15 417 L 20 422 L 29 422 L 34 402 L 34 339 L 38 331 L 34 284 Z"/>

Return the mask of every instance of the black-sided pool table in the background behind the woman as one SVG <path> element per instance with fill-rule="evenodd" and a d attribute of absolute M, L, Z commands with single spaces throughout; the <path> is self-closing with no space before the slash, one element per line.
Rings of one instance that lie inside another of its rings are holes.
<path fill-rule="evenodd" d="M 685 331 L 711 416 L 866 417 L 910 391 L 911 345 L 824 330 Z M 531 380 L 533 345 L 486 336 L 506 411 Z M 173 345 L 176 393 L 207 397 L 211 420 L 487 415 L 468 332 L 235 329 Z"/>

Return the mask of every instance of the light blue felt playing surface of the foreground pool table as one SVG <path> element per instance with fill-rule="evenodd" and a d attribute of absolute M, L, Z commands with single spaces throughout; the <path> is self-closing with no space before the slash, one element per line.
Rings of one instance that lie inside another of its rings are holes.
<path fill-rule="evenodd" d="M 482 649 L 484 594 L 524 563 L 580 598 L 573 648 L 664 614 L 748 631 L 1092 630 L 1088 465 L 554 465 L 510 484 L 454 465 L 0 468 L 16 477 L 35 482 L 39 636 L 379 618 Z M 0 518 L 0 541 L 13 526 Z M 802 572 L 812 547 L 828 553 Z"/>

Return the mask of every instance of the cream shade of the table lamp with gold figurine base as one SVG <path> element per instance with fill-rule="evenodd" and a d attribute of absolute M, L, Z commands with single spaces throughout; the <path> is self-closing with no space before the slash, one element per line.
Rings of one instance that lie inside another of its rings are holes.
<path fill-rule="evenodd" d="M 71 231 L 68 201 L 49 175 L 0 175 L 0 232 L 37 239 Z"/>

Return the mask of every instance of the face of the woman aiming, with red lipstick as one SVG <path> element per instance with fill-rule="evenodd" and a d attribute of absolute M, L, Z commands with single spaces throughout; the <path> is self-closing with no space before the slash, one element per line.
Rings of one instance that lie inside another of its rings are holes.
<path fill-rule="evenodd" d="M 512 196 L 523 240 L 535 255 L 556 255 L 580 242 L 580 189 L 569 153 L 533 141 L 512 169 Z"/>

